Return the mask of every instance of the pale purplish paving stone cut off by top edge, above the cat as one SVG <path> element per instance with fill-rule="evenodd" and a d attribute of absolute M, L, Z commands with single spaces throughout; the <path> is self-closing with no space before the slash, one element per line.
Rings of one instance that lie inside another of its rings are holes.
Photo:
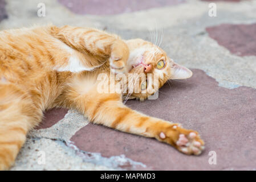
<path fill-rule="evenodd" d="M 99 1 L 70 1 L 58 0 L 72 12 L 77 14 L 111 15 L 119 13 L 130 13 L 133 11 L 177 5 L 185 0 L 99 0 Z"/>

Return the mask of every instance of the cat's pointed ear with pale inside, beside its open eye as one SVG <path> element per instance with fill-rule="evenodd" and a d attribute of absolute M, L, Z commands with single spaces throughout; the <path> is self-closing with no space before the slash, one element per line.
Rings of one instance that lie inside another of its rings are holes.
<path fill-rule="evenodd" d="M 182 65 L 179 65 L 177 63 L 173 63 L 172 67 L 172 77 L 170 79 L 185 79 L 190 78 L 193 75 L 192 71 L 190 69 L 183 67 Z"/>

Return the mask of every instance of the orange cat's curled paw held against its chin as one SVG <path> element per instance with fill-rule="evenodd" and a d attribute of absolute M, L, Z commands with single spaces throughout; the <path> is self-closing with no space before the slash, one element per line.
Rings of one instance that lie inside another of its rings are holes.
<path fill-rule="evenodd" d="M 127 60 L 129 57 L 129 48 L 122 40 L 116 40 L 111 47 L 111 56 L 109 65 L 112 73 L 127 73 Z"/>

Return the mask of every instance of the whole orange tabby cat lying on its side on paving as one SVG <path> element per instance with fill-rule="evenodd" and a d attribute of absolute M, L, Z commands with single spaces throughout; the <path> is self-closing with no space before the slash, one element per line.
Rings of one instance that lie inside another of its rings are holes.
<path fill-rule="evenodd" d="M 102 73 L 121 75 L 115 83 L 128 82 L 128 86 L 120 86 L 122 93 L 99 92 Z M 124 79 L 128 73 L 145 78 Z M 157 86 L 148 82 L 149 74 L 159 78 Z M 153 137 L 185 154 L 198 155 L 204 142 L 196 131 L 148 117 L 122 102 L 122 97 L 144 100 L 168 79 L 190 76 L 189 69 L 141 39 L 121 40 L 104 31 L 70 26 L 1 31 L 0 169 L 14 163 L 27 132 L 39 124 L 43 111 L 52 107 L 76 109 L 91 122 Z M 125 92 L 135 84 L 141 92 Z M 149 87 L 152 92 L 146 89 Z"/>

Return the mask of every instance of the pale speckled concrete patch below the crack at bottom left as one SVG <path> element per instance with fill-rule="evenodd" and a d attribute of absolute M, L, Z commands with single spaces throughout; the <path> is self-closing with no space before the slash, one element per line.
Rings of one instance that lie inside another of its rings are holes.
<path fill-rule="evenodd" d="M 40 162 L 40 155 L 45 163 Z M 43 157 L 43 156 L 42 156 Z M 16 163 L 11 170 L 110 170 L 111 168 L 84 162 L 75 150 L 62 140 L 51 138 L 27 138 Z"/>

